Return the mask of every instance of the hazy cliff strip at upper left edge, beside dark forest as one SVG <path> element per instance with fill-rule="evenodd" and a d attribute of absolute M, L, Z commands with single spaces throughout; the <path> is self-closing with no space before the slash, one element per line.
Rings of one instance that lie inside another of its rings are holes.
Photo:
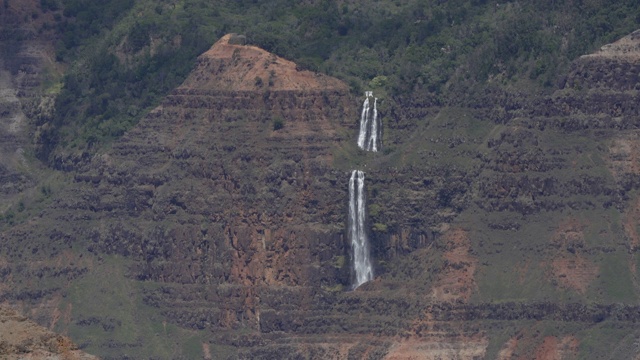
<path fill-rule="evenodd" d="M 26 154 L 32 146 L 29 122 L 47 116 L 50 96 L 42 96 L 43 73 L 53 75 L 53 18 L 31 1 L 7 1 L 0 8 L 0 211 L 17 203 L 37 182 L 38 164 Z M 24 20 L 27 19 L 27 20 Z M 46 71 L 45 71 L 46 70 Z"/>

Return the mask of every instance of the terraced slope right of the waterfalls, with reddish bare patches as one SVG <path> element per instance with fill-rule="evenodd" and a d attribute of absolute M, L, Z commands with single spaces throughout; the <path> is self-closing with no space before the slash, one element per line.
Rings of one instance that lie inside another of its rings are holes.
<path fill-rule="evenodd" d="M 389 151 L 361 159 L 379 278 L 316 302 L 321 321 L 263 313 L 263 333 L 281 338 L 247 358 L 637 356 L 627 81 L 638 62 L 627 55 L 578 59 L 566 84 L 584 85 L 550 96 L 489 88 L 470 107 L 387 104 Z"/>

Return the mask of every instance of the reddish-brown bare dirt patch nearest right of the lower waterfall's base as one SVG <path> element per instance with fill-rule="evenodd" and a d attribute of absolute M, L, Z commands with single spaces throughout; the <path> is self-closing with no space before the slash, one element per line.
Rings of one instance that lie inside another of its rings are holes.
<path fill-rule="evenodd" d="M 438 301 L 469 300 L 477 288 L 474 278 L 478 259 L 470 253 L 468 233 L 462 229 L 449 230 L 444 238 L 445 263 L 431 296 Z"/>

